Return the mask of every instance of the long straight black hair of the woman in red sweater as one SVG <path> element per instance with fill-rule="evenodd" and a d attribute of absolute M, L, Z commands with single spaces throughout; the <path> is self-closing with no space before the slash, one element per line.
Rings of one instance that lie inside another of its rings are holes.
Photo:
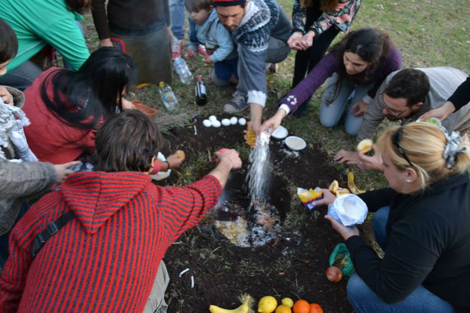
<path fill-rule="evenodd" d="M 102 47 L 74 72 L 52 71 L 41 86 L 47 108 L 71 126 L 95 128 L 99 120 L 122 110 L 122 93 L 135 81 L 132 59 L 113 47 Z M 49 86 L 52 97 L 47 94 Z"/>

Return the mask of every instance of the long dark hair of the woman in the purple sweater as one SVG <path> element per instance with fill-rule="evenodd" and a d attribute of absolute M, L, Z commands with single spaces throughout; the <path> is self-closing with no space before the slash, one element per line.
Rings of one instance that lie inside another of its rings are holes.
<path fill-rule="evenodd" d="M 374 28 L 361 28 L 357 31 L 351 31 L 339 43 L 333 46 L 330 50 L 337 55 L 337 58 L 343 62 L 343 55 L 345 52 L 352 52 L 359 55 L 364 61 L 370 62 L 370 66 L 365 69 L 364 81 L 369 81 L 374 76 L 376 69 L 382 61 L 390 53 L 390 46 L 392 42 L 387 33 L 377 31 Z M 342 63 L 343 64 L 343 63 Z M 346 67 L 341 66 L 337 71 L 338 81 L 336 83 L 336 91 L 333 99 L 328 102 L 333 102 L 341 89 L 342 81 L 350 76 L 346 72 Z"/>

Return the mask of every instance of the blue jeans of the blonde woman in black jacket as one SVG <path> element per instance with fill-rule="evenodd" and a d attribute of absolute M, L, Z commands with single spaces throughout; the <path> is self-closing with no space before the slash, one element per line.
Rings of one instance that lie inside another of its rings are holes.
<path fill-rule="evenodd" d="M 389 206 L 384 206 L 377 210 L 372 224 L 374 226 L 374 235 L 377 244 L 383 249 L 386 247 L 386 231 Z M 454 307 L 448 302 L 442 300 L 423 286 L 415 289 L 406 299 L 394 303 L 386 304 L 366 283 L 354 273 L 348 280 L 347 285 L 348 299 L 356 313 L 383 313 L 383 312 L 439 312 L 454 313 Z"/>

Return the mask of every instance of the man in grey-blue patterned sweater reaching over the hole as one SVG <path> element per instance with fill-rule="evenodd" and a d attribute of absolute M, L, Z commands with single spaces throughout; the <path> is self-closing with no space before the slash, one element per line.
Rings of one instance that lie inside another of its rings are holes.
<path fill-rule="evenodd" d="M 237 45 L 239 83 L 227 113 L 251 109 L 250 128 L 258 132 L 266 104 L 266 63 L 283 61 L 292 26 L 275 0 L 213 0 L 220 22 Z"/>

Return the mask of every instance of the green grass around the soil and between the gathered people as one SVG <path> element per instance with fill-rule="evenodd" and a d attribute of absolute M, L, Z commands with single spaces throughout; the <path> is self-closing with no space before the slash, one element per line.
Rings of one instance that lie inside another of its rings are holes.
<path fill-rule="evenodd" d="M 287 15 L 291 15 L 292 0 L 279 0 Z M 404 67 L 433 67 L 450 66 L 470 73 L 470 7 L 457 0 L 363 0 L 361 8 L 352 24 L 352 30 L 361 27 L 375 27 L 390 34 L 392 42 L 402 53 Z M 94 32 L 91 15 L 85 16 L 85 30 L 87 43 L 91 50 L 98 46 L 98 38 Z M 340 34 L 336 40 L 344 35 Z M 186 35 L 186 40 L 188 34 Z M 280 64 L 280 71 L 274 75 L 267 75 L 268 100 L 264 112 L 265 117 L 274 114 L 278 99 L 290 90 L 293 73 L 294 52 Z M 207 86 L 209 101 L 205 107 L 198 107 L 194 99 L 193 84 L 182 84 L 176 75 L 173 76 L 172 88 L 181 105 L 181 111 L 188 116 L 199 114 L 208 116 L 220 114 L 222 107 L 235 91 L 232 87 L 217 88 L 211 84 L 211 66 L 205 65 L 200 57 L 188 61 L 193 74 L 202 75 Z M 312 98 L 313 106 L 308 115 L 301 119 L 287 117 L 283 125 L 295 134 L 302 134 L 308 143 L 316 143 L 328 154 L 330 163 L 340 171 L 348 168 L 333 162 L 334 154 L 340 149 L 353 149 L 355 139 L 347 135 L 344 125 L 326 129 L 319 125 L 318 107 L 321 100 L 320 88 Z M 164 113 L 165 109 L 158 96 L 157 87 L 150 86 L 135 91 L 132 99 L 139 99 L 142 103 L 157 107 Z M 242 115 L 249 117 L 249 112 Z M 381 126 L 384 130 L 389 126 L 385 122 Z M 201 152 L 202 154 L 206 152 Z M 247 154 L 243 151 L 243 154 Z M 188 160 L 181 168 L 181 173 L 201 169 L 199 156 Z M 193 164 L 194 163 L 194 164 Z M 379 188 L 386 185 L 382 175 L 360 171 L 354 168 L 357 184 L 360 188 Z M 193 181 L 192 178 L 181 178 L 180 183 Z"/>

